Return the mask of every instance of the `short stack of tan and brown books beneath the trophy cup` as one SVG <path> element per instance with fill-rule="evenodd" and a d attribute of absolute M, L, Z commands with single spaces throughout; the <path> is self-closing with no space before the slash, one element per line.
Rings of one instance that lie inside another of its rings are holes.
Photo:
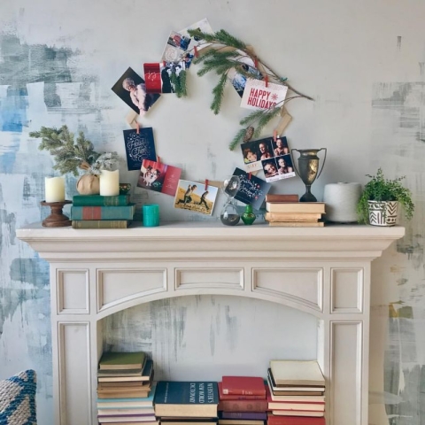
<path fill-rule="evenodd" d="M 290 199 L 297 195 L 268 195 L 265 220 L 269 226 L 287 228 L 321 228 L 325 213 L 324 202 L 298 202 Z"/>

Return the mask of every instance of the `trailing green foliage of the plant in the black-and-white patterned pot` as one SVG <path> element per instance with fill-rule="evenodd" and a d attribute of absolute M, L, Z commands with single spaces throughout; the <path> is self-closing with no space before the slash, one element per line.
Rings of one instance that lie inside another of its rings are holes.
<path fill-rule="evenodd" d="M 366 175 L 370 177 L 371 180 L 366 183 L 357 205 L 360 223 L 369 222 L 368 201 L 398 201 L 406 213 L 406 219 L 412 219 L 414 211 L 412 192 L 401 183 L 401 181 L 406 178 L 406 175 L 394 180 L 386 179 L 383 175 L 382 168 L 378 168 L 376 175 Z"/>

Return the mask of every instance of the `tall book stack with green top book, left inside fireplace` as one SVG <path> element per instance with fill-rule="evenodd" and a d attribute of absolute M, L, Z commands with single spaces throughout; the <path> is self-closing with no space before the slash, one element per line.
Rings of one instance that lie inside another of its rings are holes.
<path fill-rule="evenodd" d="M 144 352 L 104 352 L 97 370 L 97 419 L 104 424 L 158 425 L 153 362 Z"/>

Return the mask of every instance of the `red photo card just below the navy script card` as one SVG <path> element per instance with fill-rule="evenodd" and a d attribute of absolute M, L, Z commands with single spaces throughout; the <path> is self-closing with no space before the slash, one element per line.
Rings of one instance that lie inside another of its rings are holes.
<path fill-rule="evenodd" d="M 162 162 L 143 159 L 137 187 L 175 196 L 182 169 Z"/>

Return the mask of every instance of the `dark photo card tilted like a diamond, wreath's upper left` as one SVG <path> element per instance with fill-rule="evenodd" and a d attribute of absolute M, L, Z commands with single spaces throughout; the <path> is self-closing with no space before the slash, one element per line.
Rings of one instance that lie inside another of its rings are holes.
<path fill-rule="evenodd" d="M 112 91 L 139 115 L 148 112 L 160 96 L 155 93 L 147 93 L 143 78 L 131 67 L 128 67 L 128 70 L 112 86 Z"/>

